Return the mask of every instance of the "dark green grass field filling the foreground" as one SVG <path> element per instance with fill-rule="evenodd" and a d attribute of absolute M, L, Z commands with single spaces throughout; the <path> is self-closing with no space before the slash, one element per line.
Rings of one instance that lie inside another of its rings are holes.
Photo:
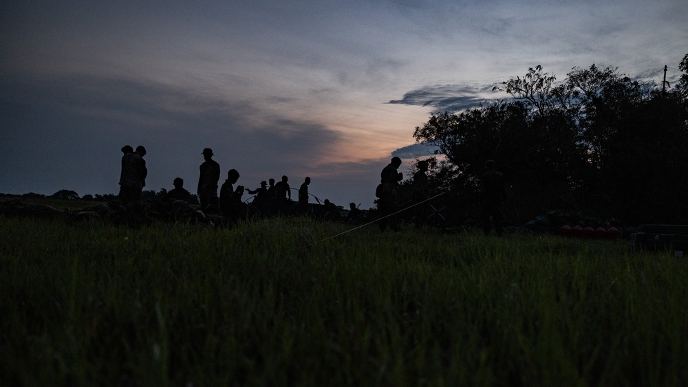
<path fill-rule="evenodd" d="M 0 218 L 1 384 L 688 384 L 681 258 L 344 230 Z"/>

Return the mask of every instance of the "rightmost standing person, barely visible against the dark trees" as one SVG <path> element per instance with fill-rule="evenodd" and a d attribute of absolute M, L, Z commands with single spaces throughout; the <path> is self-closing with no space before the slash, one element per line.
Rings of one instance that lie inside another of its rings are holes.
<path fill-rule="evenodd" d="M 490 217 L 495 223 L 497 235 L 502 236 L 504 225 L 502 224 L 502 204 L 506 201 L 506 184 L 504 175 L 495 170 L 494 160 L 485 163 L 487 170 L 480 177 L 480 207 L 482 210 L 482 230 L 490 233 Z"/>

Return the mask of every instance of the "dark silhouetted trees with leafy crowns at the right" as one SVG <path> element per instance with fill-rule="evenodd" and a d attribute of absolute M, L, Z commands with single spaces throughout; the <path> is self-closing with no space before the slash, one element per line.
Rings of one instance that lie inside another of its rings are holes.
<path fill-rule="evenodd" d="M 454 217 L 477 214 L 477 177 L 494 159 L 515 224 L 550 210 L 688 223 L 688 54 L 678 66 L 673 87 L 596 65 L 557 82 L 536 66 L 495 87 L 510 98 L 433 113 L 413 137 L 438 148 L 429 175 Z"/>

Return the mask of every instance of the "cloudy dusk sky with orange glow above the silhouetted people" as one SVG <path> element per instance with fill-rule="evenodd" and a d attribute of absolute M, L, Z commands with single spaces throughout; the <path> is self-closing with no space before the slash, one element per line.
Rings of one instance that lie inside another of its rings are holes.
<path fill-rule="evenodd" d="M 392 156 L 406 174 L 431 153 L 412 145 L 433 111 L 536 65 L 658 85 L 667 65 L 674 85 L 687 53 L 685 0 L 5 0 L 0 193 L 116 194 L 126 144 L 147 148 L 144 189 L 195 193 L 210 147 L 220 185 L 310 176 L 367 209 Z"/>

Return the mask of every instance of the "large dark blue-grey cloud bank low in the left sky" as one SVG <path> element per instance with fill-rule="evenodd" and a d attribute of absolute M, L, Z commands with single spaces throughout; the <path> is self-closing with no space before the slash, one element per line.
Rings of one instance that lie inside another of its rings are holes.
<path fill-rule="evenodd" d="M 177 176 L 194 181 L 206 146 L 222 170 L 260 181 L 314 164 L 341 140 L 321 124 L 155 82 L 1 78 L 0 86 L 4 192 L 116 192 L 125 144 L 147 147 L 147 185 L 158 190 Z"/>

